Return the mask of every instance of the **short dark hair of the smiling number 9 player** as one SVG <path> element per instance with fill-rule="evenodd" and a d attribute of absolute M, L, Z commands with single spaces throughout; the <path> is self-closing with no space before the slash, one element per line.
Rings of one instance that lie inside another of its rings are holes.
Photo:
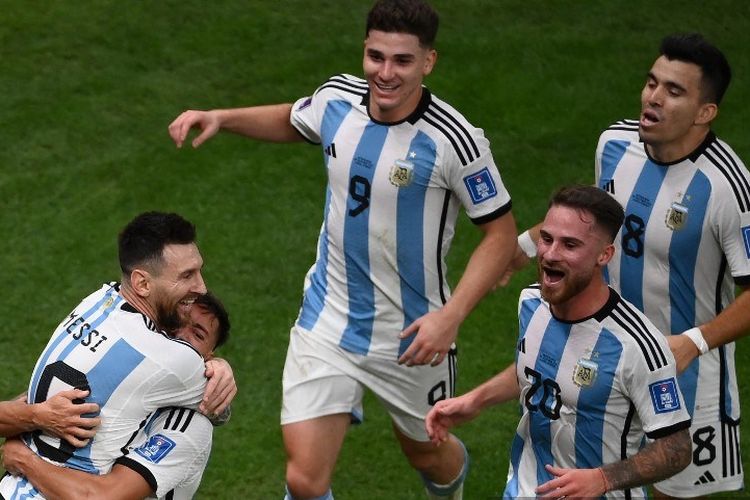
<path fill-rule="evenodd" d="M 439 24 L 435 9 L 422 0 L 378 0 L 367 14 L 365 37 L 371 30 L 408 33 L 419 38 L 422 47 L 432 48 Z"/>

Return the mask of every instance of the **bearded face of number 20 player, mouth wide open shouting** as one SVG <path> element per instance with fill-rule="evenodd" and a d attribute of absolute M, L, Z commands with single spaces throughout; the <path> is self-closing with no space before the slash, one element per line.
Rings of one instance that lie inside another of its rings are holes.
<path fill-rule="evenodd" d="M 601 307 L 602 268 L 614 246 L 587 211 L 554 205 L 547 212 L 537 243 L 542 297 L 558 318 L 577 320 Z M 606 300 L 606 298 L 604 299 Z"/>

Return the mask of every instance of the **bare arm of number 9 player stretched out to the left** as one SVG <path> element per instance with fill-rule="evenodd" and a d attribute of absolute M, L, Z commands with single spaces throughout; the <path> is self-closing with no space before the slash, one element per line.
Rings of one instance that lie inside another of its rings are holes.
<path fill-rule="evenodd" d="M 261 141 L 302 141 L 302 135 L 289 121 L 291 111 L 291 104 L 211 111 L 191 109 L 183 112 L 169 124 L 169 135 L 178 148 L 182 147 L 192 128 L 200 129 L 200 133 L 192 142 L 194 148 L 216 135 L 219 130 L 227 130 Z"/>

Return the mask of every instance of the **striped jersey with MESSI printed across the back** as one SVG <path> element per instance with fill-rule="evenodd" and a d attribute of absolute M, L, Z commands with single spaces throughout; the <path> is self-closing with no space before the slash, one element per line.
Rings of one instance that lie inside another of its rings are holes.
<path fill-rule="evenodd" d="M 55 329 L 29 384 L 29 402 L 62 390 L 88 388 L 100 407 L 101 425 L 83 448 L 41 432 L 24 436 L 40 456 L 66 467 L 104 474 L 158 408 L 197 408 L 205 389 L 203 358 L 187 343 L 170 339 L 128 304 L 119 285 L 92 293 Z M 5 476 L 6 500 L 41 498 L 22 477 Z"/>

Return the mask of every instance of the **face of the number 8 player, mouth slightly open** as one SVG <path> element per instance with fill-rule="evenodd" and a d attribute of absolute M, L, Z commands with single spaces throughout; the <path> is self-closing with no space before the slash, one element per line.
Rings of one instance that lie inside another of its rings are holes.
<path fill-rule="evenodd" d="M 708 133 L 715 104 L 703 102 L 698 65 L 659 57 L 641 91 L 638 131 L 649 153 L 661 162 L 688 156 Z"/>

